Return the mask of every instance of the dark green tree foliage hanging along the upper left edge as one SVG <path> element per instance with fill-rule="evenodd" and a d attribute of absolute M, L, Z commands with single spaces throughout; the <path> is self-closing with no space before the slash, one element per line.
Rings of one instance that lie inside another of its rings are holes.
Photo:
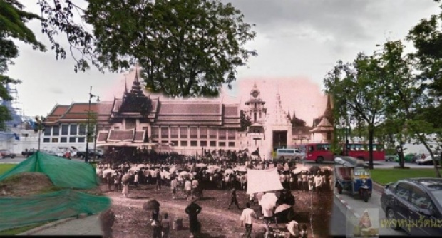
<path fill-rule="evenodd" d="M 32 48 L 45 51 L 43 44 L 36 40 L 34 33 L 25 25 L 31 19 L 38 16 L 24 11 L 24 6 L 15 0 L 0 0 L 0 98 L 12 100 L 6 90 L 8 83 L 20 83 L 19 80 L 6 75 L 13 59 L 19 56 L 19 48 L 14 39 L 30 44 Z M 5 130 L 5 122 L 11 120 L 8 108 L 0 106 L 0 130 Z"/>

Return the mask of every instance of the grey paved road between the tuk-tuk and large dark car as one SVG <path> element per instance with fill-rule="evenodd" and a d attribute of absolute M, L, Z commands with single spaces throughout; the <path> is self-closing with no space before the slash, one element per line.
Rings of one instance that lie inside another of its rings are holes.
<path fill-rule="evenodd" d="M 341 195 L 338 195 L 341 197 L 342 200 L 344 200 L 349 207 L 351 207 L 351 210 L 344 208 L 344 211 L 341 210 L 341 212 L 346 213 L 347 217 L 351 217 L 352 214 L 354 214 L 353 217 L 361 217 L 362 214 L 364 214 L 365 211 L 369 213 L 369 217 L 371 218 L 371 223 L 374 227 L 379 227 L 379 234 L 380 235 L 400 235 L 404 236 L 406 235 L 406 232 L 400 230 L 395 231 L 389 227 L 382 227 L 381 223 L 383 219 L 385 219 L 385 213 L 381 208 L 381 194 L 379 192 L 373 191 L 372 197 L 369 199 L 369 202 L 364 202 L 364 200 L 361 200 L 359 197 L 352 197 L 349 193 L 343 192 Z M 337 200 L 337 199 L 336 199 Z M 355 220 L 356 222 L 359 222 L 359 218 Z M 347 226 L 348 229 L 349 226 Z M 351 233 L 350 233 L 351 234 Z"/>

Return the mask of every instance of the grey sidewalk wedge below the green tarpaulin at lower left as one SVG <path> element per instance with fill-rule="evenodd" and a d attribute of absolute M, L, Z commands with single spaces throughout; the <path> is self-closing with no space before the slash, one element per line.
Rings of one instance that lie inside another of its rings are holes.
<path fill-rule="evenodd" d="M 85 218 L 68 218 L 61 221 L 52 222 L 42 227 L 36 227 L 28 232 L 19 235 L 69 235 L 69 236 L 103 236 L 98 215 L 92 215 Z"/>

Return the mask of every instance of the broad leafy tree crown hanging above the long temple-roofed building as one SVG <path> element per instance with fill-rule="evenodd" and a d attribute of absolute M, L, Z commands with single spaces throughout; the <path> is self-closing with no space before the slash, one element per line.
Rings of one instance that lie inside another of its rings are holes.
<path fill-rule="evenodd" d="M 256 51 L 252 26 L 219 0 L 97 0 L 84 18 L 93 26 L 98 61 L 111 71 L 139 63 L 146 87 L 169 96 L 217 96 Z"/>

